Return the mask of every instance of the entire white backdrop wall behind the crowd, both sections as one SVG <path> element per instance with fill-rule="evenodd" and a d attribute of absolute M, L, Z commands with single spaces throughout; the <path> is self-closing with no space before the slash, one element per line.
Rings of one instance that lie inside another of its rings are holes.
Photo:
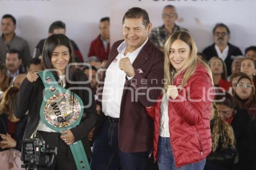
<path fill-rule="evenodd" d="M 127 9 L 146 9 L 155 27 L 162 25 L 162 9 L 168 4 L 177 7 L 177 24 L 189 29 L 199 51 L 213 43 L 212 28 L 217 22 L 229 26 L 230 42 L 242 52 L 256 45 L 256 0 L 0 0 L 0 16 L 14 15 L 16 33 L 28 41 L 31 53 L 38 41 L 48 36 L 50 24 L 62 20 L 66 35 L 77 43 L 85 58 L 90 42 L 98 35 L 101 17 L 111 17 L 113 43 L 122 38 L 122 17 Z"/>

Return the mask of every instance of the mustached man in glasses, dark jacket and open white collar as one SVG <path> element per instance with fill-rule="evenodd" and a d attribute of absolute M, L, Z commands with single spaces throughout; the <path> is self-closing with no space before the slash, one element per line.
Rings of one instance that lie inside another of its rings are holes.
<path fill-rule="evenodd" d="M 207 56 L 207 61 L 213 56 L 218 56 L 225 62 L 228 76 L 231 74 L 233 59 L 236 58 L 236 56 L 242 56 L 239 47 L 230 44 L 229 39 L 229 28 L 223 23 L 217 23 L 213 29 L 214 44 L 203 50 L 203 53 Z"/>

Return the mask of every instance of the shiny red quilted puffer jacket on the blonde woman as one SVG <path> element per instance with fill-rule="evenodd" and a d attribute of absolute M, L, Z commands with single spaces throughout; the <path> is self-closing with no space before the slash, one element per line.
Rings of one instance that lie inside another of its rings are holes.
<path fill-rule="evenodd" d="M 183 75 L 177 76 L 173 85 L 178 87 L 182 79 Z M 177 98 L 173 101 L 169 100 L 169 131 L 176 167 L 199 162 L 211 153 L 210 114 L 214 94 L 214 86 L 207 69 L 198 64 L 195 73 L 183 90 L 179 91 Z M 153 107 L 146 109 L 154 119 L 155 160 L 158 151 L 161 98 L 158 98 L 158 102 Z"/>

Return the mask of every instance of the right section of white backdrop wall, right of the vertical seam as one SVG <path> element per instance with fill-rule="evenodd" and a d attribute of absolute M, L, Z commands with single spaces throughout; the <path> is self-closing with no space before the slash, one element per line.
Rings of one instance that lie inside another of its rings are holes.
<path fill-rule="evenodd" d="M 176 6 L 179 14 L 176 23 L 189 30 L 198 51 L 213 43 L 212 29 L 220 22 L 229 27 L 230 42 L 243 53 L 246 47 L 256 45 L 255 0 L 111 0 L 111 41 L 122 38 L 121 23 L 127 9 L 144 8 L 156 27 L 163 24 L 161 14 L 165 5 Z"/>

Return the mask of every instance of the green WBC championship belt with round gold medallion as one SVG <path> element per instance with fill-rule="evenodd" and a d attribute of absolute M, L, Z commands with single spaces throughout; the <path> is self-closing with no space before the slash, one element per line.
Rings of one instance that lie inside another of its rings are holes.
<path fill-rule="evenodd" d="M 62 88 L 49 70 L 37 74 L 45 86 L 45 96 L 40 109 L 40 118 L 49 128 L 61 133 L 79 125 L 83 116 L 83 102 L 79 96 Z M 78 170 L 90 170 L 82 141 L 70 144 Z"/>

